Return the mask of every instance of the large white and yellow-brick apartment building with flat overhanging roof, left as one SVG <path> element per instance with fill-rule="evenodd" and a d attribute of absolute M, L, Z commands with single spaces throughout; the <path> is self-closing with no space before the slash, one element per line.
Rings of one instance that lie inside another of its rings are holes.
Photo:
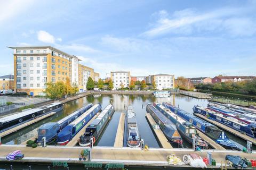
<path fill-rule="evenodd" d="M 15 92 L 44 95 L 46 82 L 66 81 L 67 77 L 79 86 L 76 56 L 51 46 L 9 48 L 13 49 Z"/>

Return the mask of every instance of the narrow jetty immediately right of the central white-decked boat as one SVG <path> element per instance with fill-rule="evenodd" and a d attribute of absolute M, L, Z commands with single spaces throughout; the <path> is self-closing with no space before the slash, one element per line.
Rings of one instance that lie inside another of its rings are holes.
<path fill-rule="evenodd" d="M 162 132 L 162 130 L 161 129 L 154 129 L 152 127 L 153 125 L 157 125 L 157 123 L 155 122 L 154 118 L 149 113 L 146 113 L 146 118 L 148 120 L 149 125 L 154 130 L 154 133 L 155 133 L 158 141 L 161 143 L 162 147 L 165 148 L 165 149 L 172 149 L 171 144 L 169 143 L 169 141 L 165 137 L 165 135 Z"/>

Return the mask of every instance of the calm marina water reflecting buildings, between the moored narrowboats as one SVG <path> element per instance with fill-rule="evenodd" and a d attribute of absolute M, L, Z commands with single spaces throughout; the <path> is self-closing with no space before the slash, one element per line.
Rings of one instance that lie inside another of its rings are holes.
<path fill-rule="evenodd" d="M 19 130 L 18 132 L 7 135 L 7 137 L 2 138 L 2 143 L 6 143 L 9 145 L 20 144 L 37 135 L 37 130 L 42 124 L 46 122 L 57 122 L 61 118 L 73 113 L 78 108 L 81 108 L 86 104 L 100 103 L 103 109 L 107 105 L 112 103 L 115 107 L 115 113 L 113 114 L 113 117 L 109 121 L 101 137 L 95 143 L 95 146 L 114 146 L 119 117 L 122 112 L 125 112 L 125 106 L 132 105 L 137 116 L 138 129 L 141 138 L 144 139 L 145 143 L 149 147 L 159 147 L 154 133 L 150 129 L 150 125 L 148 124 L 145 117 L 146 104 L 153 103 L 154 101 L 157 101 L 158 103 L 162 103 L 163 101 L 171 103 L 172 105 L 180 107 L 181 109 L 189 113 L 193 113 L 192 108 L 194 105 L 207 107 L 208 103 L 206 99 L 195 99 L 182 95 L 172 95 L 168 98 L 156 98 L 153 95 L 90 95 L 66 103 L 63 110 L 58 112 L 54 116 L 48 117 L 45 120 L 27 126 L 26 128 Z M 239 148 L 243 148 L 246 146 L 246 142 L 244 140 L 235 137 L 229 132 L 226 133 L 231 140 L 237 143 Z M 184 141 L 184 147 L 191 148 L 191 145 Z"/>

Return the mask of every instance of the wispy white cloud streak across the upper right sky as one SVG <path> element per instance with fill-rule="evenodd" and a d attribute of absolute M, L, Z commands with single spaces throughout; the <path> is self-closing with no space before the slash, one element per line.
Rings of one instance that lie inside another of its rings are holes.
<path fill-rule="evenodd" d="M 166 33 L 187 35 L 194 32 L 222 30 L 227 30 L 227 34 L 232 36 L 252 36 L 256 33 L 256 20 L 250 14 L 254 11 L 255 7 L 248 6 L 219 8 L 210 12 L 198 12 L 187 8 L 175 11 L 172 15 L 162 10 L 153 14 L 157 16 L 157 20 L 153 28 L 143 32 L 142 36 L 154 37 Z M 244 14 L 247 15 L 243 16 Z"/>

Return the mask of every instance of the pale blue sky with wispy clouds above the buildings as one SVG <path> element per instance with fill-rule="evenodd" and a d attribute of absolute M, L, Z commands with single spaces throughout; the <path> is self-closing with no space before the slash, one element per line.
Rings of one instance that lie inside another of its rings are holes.
<path fill-rule="evenodd" d="M 12 49 L 50 45 L 105 78 L 256 75 L 256 1 L 0 0 L 0 73 Z"/>

